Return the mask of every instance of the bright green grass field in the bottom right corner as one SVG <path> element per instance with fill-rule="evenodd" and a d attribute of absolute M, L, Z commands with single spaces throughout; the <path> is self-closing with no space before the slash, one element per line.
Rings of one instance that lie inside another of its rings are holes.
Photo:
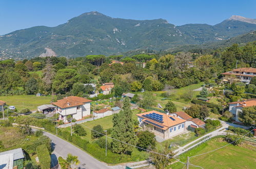
<path fill-rule="evenodd" d="M 186 156 L 194 156 L 201 153 L 217 149 L 227 142 L 222 138 L 215 138 L 199 147 L 190 150 L 180 157 L 181 161 L 186 162 Z M 196 151 L 198 149 L 198 151 Z M 245 144 L 244 147 L 228 145 L 218 151 L 190 158 L 189 162 L 203 168 L 255 168 L 256 148 Z M 184 164 L 175 163 L 172 168 L 182 168 Z M 190 168 L 195 168 L 190 166 Z"/>

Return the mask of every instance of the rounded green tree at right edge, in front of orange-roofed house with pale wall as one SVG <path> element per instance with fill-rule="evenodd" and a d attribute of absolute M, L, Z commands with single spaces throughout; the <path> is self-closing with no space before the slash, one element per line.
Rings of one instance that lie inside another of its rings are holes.
<path fill-rule="evenodd" d="M 239 120 L 247 126 L 256 124 L 256 105 L 244 107 L 242 113 L 239 113 Z"/>

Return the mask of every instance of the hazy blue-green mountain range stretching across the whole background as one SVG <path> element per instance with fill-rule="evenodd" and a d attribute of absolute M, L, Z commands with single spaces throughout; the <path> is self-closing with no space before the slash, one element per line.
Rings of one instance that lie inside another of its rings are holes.
<path fill-rule="evenodd" d="M 132 20 L 88 12 L 56 27 L 36 26 L 0 36 L 0 59 L 167 50 L 226 40 L 254 30 L 256 19 L 242 16 L 231 16 L 214 26 L 174 26 L 165 19 Z"/>

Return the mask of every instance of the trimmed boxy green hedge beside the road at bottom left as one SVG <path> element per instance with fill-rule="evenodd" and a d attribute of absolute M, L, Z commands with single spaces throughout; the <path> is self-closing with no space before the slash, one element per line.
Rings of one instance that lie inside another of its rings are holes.
<path fill-rule="evenodd" d="M 42 169 L 48 169 L 51 167 L 51 157 L 46 145 L 39 145 L 36 147 L 36 154 L 38 156 Z"/>

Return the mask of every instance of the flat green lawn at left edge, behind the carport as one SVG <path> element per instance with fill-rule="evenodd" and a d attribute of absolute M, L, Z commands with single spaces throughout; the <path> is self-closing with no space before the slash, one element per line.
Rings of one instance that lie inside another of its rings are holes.
<path fill-rule="evenodd" d="M 17 110 L 28 108 L 31 111 L 36 110 L 38 105 L 50 104 L 51 96 L 35 95 L 15 95 L 15 96 L 0 96 L 0 100 L 6 101 L 7 105 L 14 105 Z"/>

